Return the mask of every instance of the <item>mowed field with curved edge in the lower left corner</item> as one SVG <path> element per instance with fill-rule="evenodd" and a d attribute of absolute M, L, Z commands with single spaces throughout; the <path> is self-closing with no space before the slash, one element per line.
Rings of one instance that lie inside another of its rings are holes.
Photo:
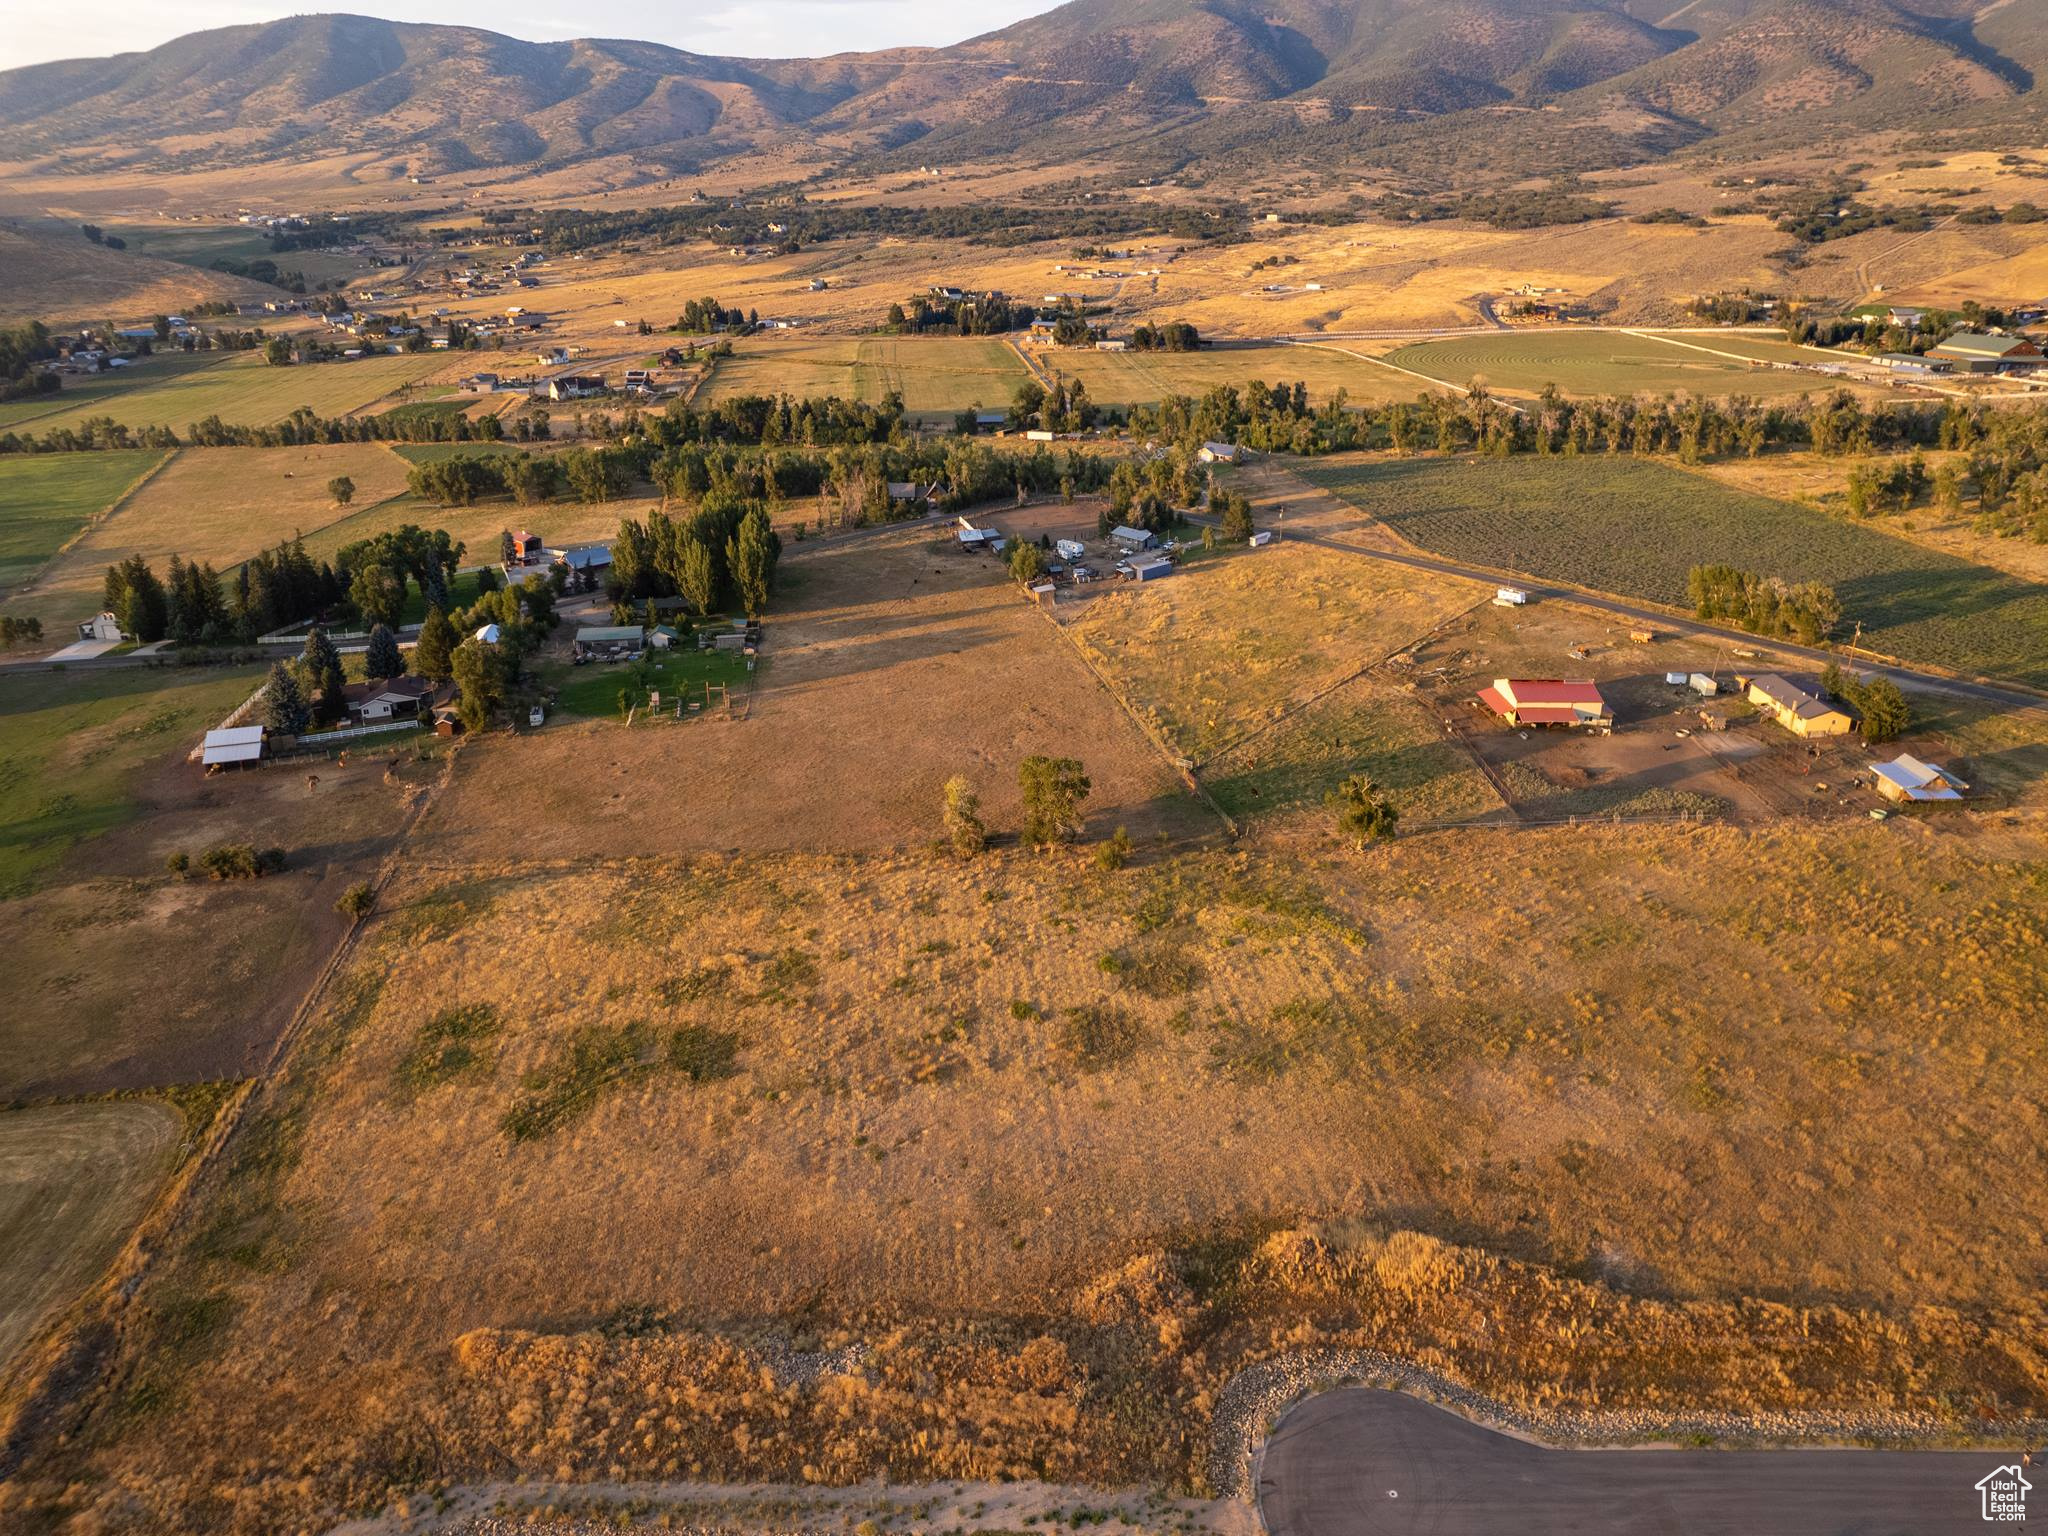
<path fill-rule="evenodd" d="M 127 1239 L 180 1130 L 143 1100 L 0 1112 L 0 1372 Z"/>

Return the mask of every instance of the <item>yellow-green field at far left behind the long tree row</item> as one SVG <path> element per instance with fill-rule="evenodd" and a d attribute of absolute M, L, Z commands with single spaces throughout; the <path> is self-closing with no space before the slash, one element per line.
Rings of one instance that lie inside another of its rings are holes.
<path fill-rule="evenodd" d="M 446 352 L 365 356 L 352 362 L 301 362 L 274 369 L 260 352 L 217 354 L 195 367 L 178 367 L 139 379 L 133 387 L 92 393 L 76 406 L 57 397 L 61 410 L 16 418 L 18 432 L 49 432 L 109 416 L 127 428 L 168 426 L 180 436 L 195 422 L 219 416 L 229 426 L 283 422 L 301 406 L 315 416 L 348 416 L 442 371 L 461 373 Z M 141 371 L 141 369 L 137 369 Z"/>

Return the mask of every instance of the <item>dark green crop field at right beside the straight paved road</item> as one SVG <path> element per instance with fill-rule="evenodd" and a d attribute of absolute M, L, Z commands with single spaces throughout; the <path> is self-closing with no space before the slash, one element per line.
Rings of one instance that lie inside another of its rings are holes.
<path fill-rule="evenodd" d="M 1690 606 L 1729 563 L 1829 582 L 1843 635 L 1909 662 L 2048 682 L 2048 590 L 1794 502 L 1638 459 L 1327 459 L 1298 473 L 1415 545 L 1499 569 Z"/>

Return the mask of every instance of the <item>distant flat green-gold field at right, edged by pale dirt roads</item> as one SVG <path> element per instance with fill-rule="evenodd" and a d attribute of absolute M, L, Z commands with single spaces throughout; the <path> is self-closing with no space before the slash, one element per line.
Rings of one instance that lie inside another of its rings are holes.
<path fill-rule="evenodd" d="M 1694 338 L 1712 346 L 1714 338 Z M 1386 360 L 1462 389 L 1483 379 L 1489 389 L 1534 395 L 1556 385 L 1567 395 L 1817 395 L 1841 379 L 1784 369 L 1751 369 L 1653 336 L 1593 330 L 1499 332 L 1419 342 L 1386 352 Z M 1808 358 L 1810 360 L 1810 358 Z"/>

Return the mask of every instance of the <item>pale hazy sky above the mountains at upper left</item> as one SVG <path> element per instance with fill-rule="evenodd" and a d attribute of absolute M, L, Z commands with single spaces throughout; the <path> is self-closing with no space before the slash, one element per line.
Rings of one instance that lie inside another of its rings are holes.
<path fill-rule="evenodd" d="M 537 43 L 567 37 L 641 37 L 694 53 L 743 57 L 811 57 L 848 49 L 909 43 L 958 43 L 1008 27 L 1057 0 L 383 0 L 375 6 L 338 2 L 391 20 L 446 20 L 487 27 Z M 0 0 L 0 70 L 43 59 L 76 59 L 156 47 L 180 33 L 274 20 L 311 6 L 262 0 Z"/>

